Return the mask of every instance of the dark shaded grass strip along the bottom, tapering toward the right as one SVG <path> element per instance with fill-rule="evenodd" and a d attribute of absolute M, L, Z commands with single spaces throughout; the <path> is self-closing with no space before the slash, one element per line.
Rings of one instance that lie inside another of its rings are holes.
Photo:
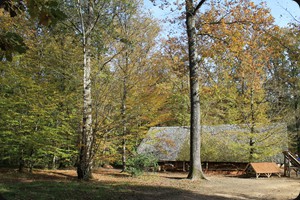
<path fill-rule="evenodd" d="M 4 189 L 3 189 L 4 188 Z M 233 197 L 203 195 L 171 187 L 139 186 L 107 182 L 43 182 L 0 184 L 6 200 L 64 199 L 64 200 L 229 200 Z M 253 199 L 250 197 L 245 197 Z M 240 199 L 240 198 L 239 198 Z M 2 199 L 3 200 L 3 199 Z"/>

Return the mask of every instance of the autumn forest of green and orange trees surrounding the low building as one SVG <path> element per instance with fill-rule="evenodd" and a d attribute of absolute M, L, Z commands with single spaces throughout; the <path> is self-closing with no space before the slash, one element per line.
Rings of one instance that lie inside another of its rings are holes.
<path fill-rule="evenodd" d="M 180 2 L 168 34 L 141 0 L 1 1 L 0 166 L 88 179 L 125 170 L 149 128 L 190 124 L 247 125 L 255 160 L 255 130 L 285 123 L 300 154 L 300 22 L 279 27 L 250 0 Z"/>

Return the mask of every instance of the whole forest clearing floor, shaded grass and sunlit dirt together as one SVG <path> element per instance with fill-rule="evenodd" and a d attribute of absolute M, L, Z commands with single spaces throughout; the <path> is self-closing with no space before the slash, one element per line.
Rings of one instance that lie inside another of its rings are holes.
<path fill-rule="evenodd" d="M 207 175 L 190 181 L 187 173 L 145 173 L 130 177 L 116 169 L 94 171 L 90 182 L 78 181 L 75 170 L 36 170 L 33 174 L 0 170 L 0 199 L 219 200 L 295 199 L 300 177 L 239 178 Z M 2 198 L 1 198 L 2 197 Z"/>

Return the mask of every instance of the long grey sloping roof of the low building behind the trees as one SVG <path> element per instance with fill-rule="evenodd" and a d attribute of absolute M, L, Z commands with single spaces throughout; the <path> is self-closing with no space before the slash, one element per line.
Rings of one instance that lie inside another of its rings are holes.
<path fill-rule="evenodd" d="M 202 160 L 247 162 L 249 158 L 249 127 L 244 125 L 202 126 Z M 257 161 L 282 162 L 282 150 L 287 148 L 285 124 L 271 124 L 255 130 L 271 145 L 269 157 Z M 152 127 L 137 149 L 138 153 L 152 153 L 159 161 L 189 161 L 189 127 Z M 262 142 L 257 141 L 257 146 Z M 261 144 L 261 146 L 263 146 Z M 258 151 L 266 151 L 258 147 Z"/>

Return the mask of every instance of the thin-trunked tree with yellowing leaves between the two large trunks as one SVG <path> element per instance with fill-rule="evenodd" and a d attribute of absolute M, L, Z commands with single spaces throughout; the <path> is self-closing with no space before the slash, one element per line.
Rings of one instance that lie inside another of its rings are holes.
<path fill-rule="evenodd" d="M 126 7 L 125 7 L 126 6 Z M 136 108 L 133 102 L 140 104 L 140 102 L 133 100 L 132 96 L 136 93 L 137 83 L 143 85 L 143 82 L 152 81 L 148 74 L 144 73 L 149 65 L 146 60 L 151 59 L 151 49 L 153 49 L 159 28 L 157 24 L 150 18 L 143 16 L 137 12 L 137 2 L 131 5 L 125 5 L 122 15 L 118 16 L 120 43 L 117 46 L 117 51 L 120 52 L 115 59 L 116 78 L 119 79 L 120 85 L 120 133 L 122 135 L 122 166 L 123 171 L 126 170 L 126 162 L 128 157 L 128 143 L 130 143 L 130 135 L 134 131 L 134 123 L 136 119 L 132 119 L 132 108 Z M 146 76 L 144 77 L 143 74 Z M 140 93 L 140 95 L 143 95 Z M 148 100 L 146 100 L 148 101 Z M 158 103 L 159 105 L 159 103 Z M 138 113 L 138 112 L 137 112 Z"/>

